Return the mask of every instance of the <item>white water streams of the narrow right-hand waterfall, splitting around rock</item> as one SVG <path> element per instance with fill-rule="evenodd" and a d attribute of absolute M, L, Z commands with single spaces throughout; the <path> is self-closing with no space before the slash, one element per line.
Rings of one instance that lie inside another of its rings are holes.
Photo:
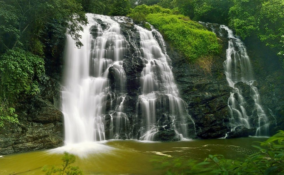
<path fill-rule="evenodd" d="M 253 79 L 251 62 L 246 47 L 239 38 L 234 36 L 233 31 L 227 26 L 221 25 L 220 29 L 227 31 L 227 37 L 229 38 L 224 69 L 229 86 L 234 88 L 228 100 L 228 106 L 232 115 L 232 118 L 230 119 L 232 130 L 238 125 L 244 125 L 247 128 L 253 127 L 253 120 L 251 119 L 251 116 L 247 115 L 245 106 L 246 101 L 241 90 L 235 86 L 236 83 L 243 82 L 251 88 L 251 96 L 254 100 L 254 109 L 252 113 L 256 113 L 258 116 L 257 131 L 255 135 L 267 135 L 269 120 L 261 106 L 258 90 L 254 86 L 255 80 Z M 220 35 L 222 36 L 222 34 Z"/>

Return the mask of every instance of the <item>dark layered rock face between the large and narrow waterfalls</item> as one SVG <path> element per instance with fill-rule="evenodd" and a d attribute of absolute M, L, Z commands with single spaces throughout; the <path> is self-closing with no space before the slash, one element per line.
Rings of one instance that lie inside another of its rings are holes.
<path fill-rule="evenodd" d="M 198 64 L 188 64 L 185 57 L 169 45 L 167 54 L 172 60 L 172 72 L 182 99 L 188 104 L 188 113 L 195 121 L 198 138 L 210 139 L 225 136 L 230 131 L 227 106 L 232 88 L 227 85 L 223 69 L 227 39 L 221 38 L 223 51 L 213 58 L 211 72 L 204 72 Z"/>

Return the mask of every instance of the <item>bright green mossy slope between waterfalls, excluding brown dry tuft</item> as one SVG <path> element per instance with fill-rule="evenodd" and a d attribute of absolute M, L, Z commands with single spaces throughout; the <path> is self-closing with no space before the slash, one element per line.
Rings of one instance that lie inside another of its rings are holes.
<path fill-rule="evenodd" d="M 146 21 L 158 28 L 165 39 L 184 54 L 189 62 L 215 55 L 221 50 L 214 33 L 184 15 L 154 13 L 147 15 Z"/>

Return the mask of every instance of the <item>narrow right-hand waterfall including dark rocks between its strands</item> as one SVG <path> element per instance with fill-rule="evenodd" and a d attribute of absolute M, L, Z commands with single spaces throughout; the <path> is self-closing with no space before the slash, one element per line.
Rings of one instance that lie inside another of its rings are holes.
<path fill-rule="evenodd" d="M 229 133 L 229 136 L 232 133 L 237 134 L 235 130 L 241 129 L 245 129 L 247 134 L 250 135 L 268 135 L 270 122 L 261 106 L 260 94 L 253 78 L 251 61 L 244 43 L 225 25 L 200 23 L 211 29 L 216 35 L 221 37 L 227 35 L 228 38 L 224 69 L 227 82 L 233 88 L 228 99 L 228 107 L 232 116 L 230 119 L 232 132 Z M 246 93 L 244 94 L 242 90 Z M 256 130 L 253 128 L 256 128 Z"/>

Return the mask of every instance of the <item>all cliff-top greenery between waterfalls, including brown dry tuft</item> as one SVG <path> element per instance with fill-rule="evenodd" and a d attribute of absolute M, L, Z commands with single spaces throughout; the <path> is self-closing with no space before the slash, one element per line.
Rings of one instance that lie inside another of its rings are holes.
<path fill-rule="evenodd" d="M 132 9 L 128 16 L 136 23 L 144 24 L 144 27 L 147 25 L 145 22 L 152 24 L 188 62 L 195 62 L 205 73 L 210 73 L 212 57 L 221 50 L 216 35 L 189 17 L 176 13 L 178 11 L 158 5 L 140 5 Z"/>

